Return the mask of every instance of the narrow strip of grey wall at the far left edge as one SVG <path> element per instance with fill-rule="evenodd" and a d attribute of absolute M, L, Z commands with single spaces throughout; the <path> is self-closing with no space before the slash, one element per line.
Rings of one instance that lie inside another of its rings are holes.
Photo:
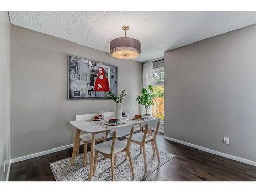
<path fill-rule="evenodd" d="M 4 161 L 6 160 L 6 172 Z M 0 11 L 0 181 L 5 181 L 10 160 L 10 22 Z"/>

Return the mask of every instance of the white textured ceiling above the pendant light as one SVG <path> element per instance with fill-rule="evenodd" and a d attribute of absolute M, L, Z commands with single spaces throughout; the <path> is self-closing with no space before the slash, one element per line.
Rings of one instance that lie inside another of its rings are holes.
<path fill-rule="evenodd" d="M 14 25 L 109 52 L 112 39 L 141 42 L 137 61 L 164 56 L 164 51 L 256 23 L 256 12 L 231 11 L 10 11 Z"/>

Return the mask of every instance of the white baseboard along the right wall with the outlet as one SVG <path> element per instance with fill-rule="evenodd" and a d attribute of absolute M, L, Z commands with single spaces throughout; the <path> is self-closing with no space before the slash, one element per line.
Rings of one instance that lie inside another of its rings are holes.
<path fill-rule="evenodd" d="M 174 138 L 171 138 L 171 137 L 164 136 L 163 138 L 166 139 L 166 140 L 169 140 L 169 141 L 174 141 L 176 143 L 180 143 L 180 144 L 187 145 L 187 146 L 190 146 L 190 147 L 193 147 L 193 148 L 197 148 L 198 150 L 202 150 L 202 151 L 205 151 L 205 152 L 208 152 L 208 153 L 212 153 L 212 154 L 215 154 L 215 155 L 226 157 L 228 159 L 232 159 L 232 160 L 236 160 L 236 161 L 239 161 L 239 162 L 242 162 L 242 163 L 246 163 L 246 164 L 249 164 L 249 165 L 256 166 L 255 161 L 251 161 L 251 160 L 244 159 L 244 158 L 241 158 L 241 157 L 237 157 L 237 156 L 229 155 L 229 154 L 226 154 L 226 153 L 218 152 L 218 151 L 215 151 L 215 150 L 211 150 L 210 148 L 205 148 L 205 147 L 195 145 L 195 144 L 192 144 L 192 143 L 187 143 L 185 141 L 181 141 L 181 140 L 174 139 Z"/>

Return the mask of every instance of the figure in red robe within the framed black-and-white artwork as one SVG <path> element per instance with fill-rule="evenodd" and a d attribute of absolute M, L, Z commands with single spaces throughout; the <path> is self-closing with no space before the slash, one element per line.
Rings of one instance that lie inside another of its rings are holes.
<path fill-rule="evenodd" d="M 94 84 L 95 91 L 110 91 L 109 80 L 103 67 L 99 67 L 98 75 Z"/>

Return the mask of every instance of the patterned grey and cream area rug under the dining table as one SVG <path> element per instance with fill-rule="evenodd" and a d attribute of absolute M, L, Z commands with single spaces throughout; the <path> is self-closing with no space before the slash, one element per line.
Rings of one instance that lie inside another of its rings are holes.
<path fill-rule="evenodd" d="M 127 140 L 123 140 L 124 143 Z M 135 178 L 132 178 L 129 160 L 125 160 L 125 152 L 117 155 L 117 164 L 115 165 L 116 181 L 140 181 L 150 175 L 154 170 L 162 166 L 164 163 L 175 157 L 175 155 L 167 153 L 159 149 L 160 164 L 156 155 L 153 155 L 151 145 L 146 144 L 147 156 L 147 172 L 144 170 L 143 154 L 140 153 L 140 146 L 131 143 L 131 156 L 134 162 Z M 83 166 L 83 153 L 75 158 L 74 166 L 70 166 L 70 157 L 50 163 L 53 175 L 56 181 L 88 181 L 90 169 L 90 152 L 87 154 L 87 166 Z M 93 181 L 111 181 L 111 164 L 110 159 L 98 155 L 98 163 L 96 175 Z"/>

